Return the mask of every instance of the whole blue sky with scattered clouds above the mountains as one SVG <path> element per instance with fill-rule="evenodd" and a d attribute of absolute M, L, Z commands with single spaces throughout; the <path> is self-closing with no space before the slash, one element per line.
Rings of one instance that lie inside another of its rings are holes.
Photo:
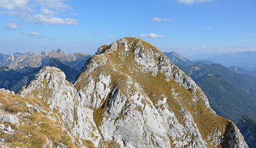
<path fill-rule="evenodd" d="M 94 54 L 134 36 L 182 54 L 256 50 L 255 0 L 0 0 L 0 53 Z"/>

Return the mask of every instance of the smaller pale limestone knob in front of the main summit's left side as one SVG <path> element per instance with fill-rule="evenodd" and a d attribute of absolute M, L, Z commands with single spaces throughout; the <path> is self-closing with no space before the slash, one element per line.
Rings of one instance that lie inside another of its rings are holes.
<path fill-rule="evenodd" d="M 64 72 L 55 67 L 44 67 L 23 89 L 19 96 L 42 101 L 50 112 L 58 115 L 63 128 L 70 134 L 94 141 L 97 146 L 101 136 L 97 130 L 93 130 L 96 127 L 91 117 L 92 110 L 81 104 L 77 90 L 65 80 Z"/>

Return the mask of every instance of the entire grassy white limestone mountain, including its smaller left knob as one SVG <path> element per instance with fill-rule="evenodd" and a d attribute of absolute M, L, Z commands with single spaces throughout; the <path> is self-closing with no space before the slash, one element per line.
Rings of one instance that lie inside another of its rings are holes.
<path fill-rule="evenodd" d="M 99 48 L 73 84 L 45 67 L 19 95 L 44 102 L 65 130 L 98 148 L 247 148 L 190 77 L 133 37 Z"/>

